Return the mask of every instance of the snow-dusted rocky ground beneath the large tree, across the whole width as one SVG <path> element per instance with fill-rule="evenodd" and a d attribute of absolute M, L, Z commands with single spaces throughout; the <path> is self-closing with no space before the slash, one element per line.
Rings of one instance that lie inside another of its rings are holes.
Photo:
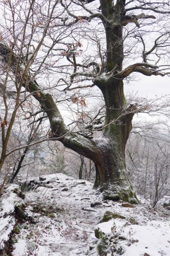
<path fill-rule="evenodd" d="M 170 209 L 163 204 L 103 201 L 89 181 L 63 174 L 32 184 L 25 196 L 14 184 L 2 197 L 2 255 L 3 247 L 8 256 L 170 255 Z M 104 214 L 111 220 L 101 222 Z"/>

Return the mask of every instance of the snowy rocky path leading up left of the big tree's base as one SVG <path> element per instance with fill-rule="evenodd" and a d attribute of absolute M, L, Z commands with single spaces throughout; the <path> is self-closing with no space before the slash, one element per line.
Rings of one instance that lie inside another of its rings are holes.
<path fill-rule="evenodd" d="M 63 211 L 56 211 L 54 218 L 37 214 L 37 224 L 22 230 L 15 244 L 14 256 L 29 255 L 31 251 L 38 256 L 90 255 L 90 244 L 96 241 L 94 228 L 102 214 L 90 207 L 90 203 L 96 200 L 92 184 L 88 181 L 81 183 L 65 175 L 50 175 L 44 181 L 49 188 L 39 187 L 35 192 L 27 193 L 25 201 L 28 205 L 37 204 L 42 208 L 43 205 L 56 205 Z M 29 207 L 27 213 L 32 214 Z M 36 236 L 29 236 L 31 231 L 36 231 Z"/>

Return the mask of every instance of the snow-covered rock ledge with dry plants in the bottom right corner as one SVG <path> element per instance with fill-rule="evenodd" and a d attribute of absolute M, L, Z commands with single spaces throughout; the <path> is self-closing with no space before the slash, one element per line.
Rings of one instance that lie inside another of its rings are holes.
<path fill-rule="evenodd" d="M 111 220 L 96 226 L 100 230 L 101 237 L 108 236 L 111 242 L 108 247 L 112 251 L 112 243 L 117 249 L 122 248 L 125 251 L 124 256 L 144 256 L 147 253 L 150 256 L 170 255 L 170 227 L 169 222 L 150 221 L 147 225 L 128 225 L 124 220 Z M 104 238 L 106 239 L 106 238 Z M 114 255 L 120 255 L 115 254 Z"/>

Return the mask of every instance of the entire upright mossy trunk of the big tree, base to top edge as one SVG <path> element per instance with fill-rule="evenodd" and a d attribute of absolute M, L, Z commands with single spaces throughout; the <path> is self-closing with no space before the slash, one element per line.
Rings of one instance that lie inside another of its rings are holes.
<path fill-rule="evenodd" d="M 127 110 L 124 84 L 116 75 L 122 70 L 124 59 L 122 21 L 125 16 L 125 0 L 100 0 L 104 21 L 107 55 L 105 68 L 108 72 L 96 77 L 95 84 L 104 96 L 106 107 L 103 137 L 95 139 L 98 154 L 95 187 L 100 187 L 105 199 L 125 200 L 137 203 L 125 164 L 125 146 L 131 130 L 133 113 Z"/>

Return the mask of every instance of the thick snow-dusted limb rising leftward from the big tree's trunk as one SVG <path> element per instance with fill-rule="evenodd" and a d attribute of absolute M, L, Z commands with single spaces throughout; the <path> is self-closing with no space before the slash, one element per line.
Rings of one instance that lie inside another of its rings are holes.
<path fill-rule="evenodd" d="M 3 57 L 3 63 L 7 65 L 9 59 L 8 54 L 10 54 L 10 51 L 10 48 L 8 48 L 4 43 L 0 42 L 0 55 Z M 12 61 L 12 67 L 10 68 L 14 75 L 16 75 L 15 68 L 19 60 L 17 60 L 17 56 L 14 52 L 12 52 L 12 56 L 14 57 L 14 60 Z M 21 67 L 20 73 L 23 74 L 22 76 L 26 76 L 24 70 Z M 63 118 L 52 96 L 48 93 L 44 93 L 41 90 L 39 84 L 35 80 L 32 81 L 31 77 L 28 75 L 27 82 L 25 83 L 25 79 L 24 77 L 21 77 L 20 73 L 18 75 L 19 82 L 23 82 L 22 86 L 24 86 L 27 92 L 31 93 L 32 96 L 36 98 L 36 100 L 40 103 L 41 108 L 44 110 L 49 118 L 52 130 L 52 138 L 60 137 L 59 141 L 61 141 L 64 146 L 71 148 L 72 150 L 86 156 L 87 158 L 90 158 L 91 160 L 94 160 L 96 157 L 95 152 L 97 152 L 95 143 L 79 134 L 70 133 L 70 131 L 67 129 L 63 122 Z"/>

